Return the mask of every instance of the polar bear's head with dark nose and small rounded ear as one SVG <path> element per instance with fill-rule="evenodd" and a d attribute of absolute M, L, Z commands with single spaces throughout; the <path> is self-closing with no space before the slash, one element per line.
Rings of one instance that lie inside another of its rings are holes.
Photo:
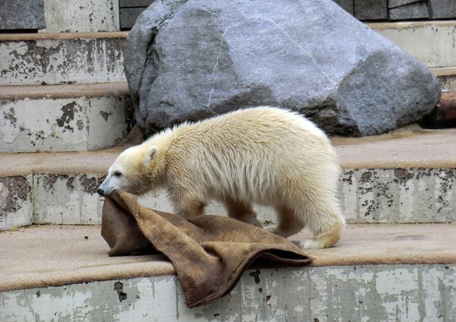
<path fill-rule="evenodd" d="M 138 145 L 122 152 L 109 168 L 108 176 L 98 188 L 102 196 L 123 190 L 140 195 L 157 187 L 165 169 L 157 146 Z"/>

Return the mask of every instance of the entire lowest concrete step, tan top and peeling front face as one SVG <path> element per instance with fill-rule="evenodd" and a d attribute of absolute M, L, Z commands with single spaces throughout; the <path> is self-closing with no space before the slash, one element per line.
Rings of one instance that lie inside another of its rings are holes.
<path fill-rule="evenodd" d="M 231 299 L 194 309 L 164 256 L 109 258 L 99 226 L 1 232 L 0 320 L 450 322 L 454 229 L 348 225 L 335 247 L 310 252 L 310 267 L 254 263 Z"/>

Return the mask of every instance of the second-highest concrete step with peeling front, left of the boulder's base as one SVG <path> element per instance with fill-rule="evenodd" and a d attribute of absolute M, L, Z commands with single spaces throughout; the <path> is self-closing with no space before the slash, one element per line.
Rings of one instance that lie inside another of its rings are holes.
<path fill-rule="evenodd" d="M 127 83 L 0 86 L 0 152 L 87 151 L 126 138 Z"/>

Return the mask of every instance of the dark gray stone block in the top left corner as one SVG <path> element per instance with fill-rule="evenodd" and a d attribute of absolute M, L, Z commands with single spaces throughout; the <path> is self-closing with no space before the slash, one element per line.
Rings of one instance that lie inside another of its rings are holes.
<path fill-rule="evenodd" d="M 46 28 L 43 0 L 0 1 L 0 29 Z"/>

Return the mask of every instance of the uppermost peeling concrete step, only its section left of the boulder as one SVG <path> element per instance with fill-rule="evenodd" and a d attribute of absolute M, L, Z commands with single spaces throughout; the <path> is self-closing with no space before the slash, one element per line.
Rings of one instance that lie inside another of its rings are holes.
<path fill-rule="evenodd" d="M 126 82 L 127 32 L 0 34 L 0 85 Z"/>

